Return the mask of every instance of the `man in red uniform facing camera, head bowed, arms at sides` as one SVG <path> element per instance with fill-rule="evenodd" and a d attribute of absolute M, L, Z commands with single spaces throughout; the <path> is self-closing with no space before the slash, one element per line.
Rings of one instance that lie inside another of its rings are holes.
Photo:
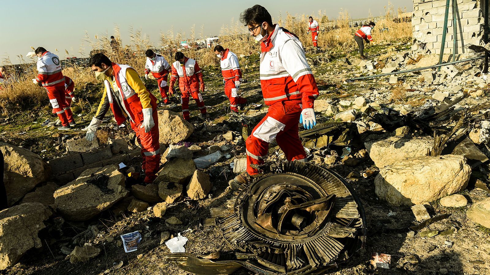
<path fill-rule="evenodd" d="M 204 92 L 204 79 L 202 77 L 201 68 L 197 61 L 184 56 L 180 51 L 175 53 L 175 62 L 172 63 L 172 75 L 170 77 L 170 88 L 173 91 L 175 81 L 179 81 L 179 89 L 181 92 L 182 115 L 185 120 L 189 120 L 189 97 L 192 96 L 196 100 L 197 108 L 201 111 L 201 118 L 207 117 L 206 106 L 199 92 Z"/>

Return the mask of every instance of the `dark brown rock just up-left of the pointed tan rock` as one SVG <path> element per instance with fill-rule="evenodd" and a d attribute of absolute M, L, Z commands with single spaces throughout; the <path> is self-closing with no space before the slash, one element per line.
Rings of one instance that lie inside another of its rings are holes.
<path fill-rule="evenodd" d="M 158 172 L 155 182 L 185 184 L 196 171 L 196 164 L 191 159 L 176 158 L 169 160 Z"/>

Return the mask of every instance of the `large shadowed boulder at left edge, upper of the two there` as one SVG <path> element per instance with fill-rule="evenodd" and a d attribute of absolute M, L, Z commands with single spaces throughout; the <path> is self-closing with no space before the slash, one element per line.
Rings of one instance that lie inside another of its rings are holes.
<path fill-rule="evenodd" d="M 4 183 L 8 205 L 18 202 L 51 176 L 48 163 L 31 151 L 0 142 L 4 159 Z"/>

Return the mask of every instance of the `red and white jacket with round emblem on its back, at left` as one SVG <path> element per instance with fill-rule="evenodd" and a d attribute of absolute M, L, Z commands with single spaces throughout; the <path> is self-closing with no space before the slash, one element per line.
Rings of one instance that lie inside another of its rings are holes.
<path fill-rule="evenodd" d="M 65 85 L 65 77 L 61 72 L 61 63 L 59 57 L 45 51 L 37 61 L 38 75 L 37 82 L 40 82 L 43 87 L 59 87 Z"/>

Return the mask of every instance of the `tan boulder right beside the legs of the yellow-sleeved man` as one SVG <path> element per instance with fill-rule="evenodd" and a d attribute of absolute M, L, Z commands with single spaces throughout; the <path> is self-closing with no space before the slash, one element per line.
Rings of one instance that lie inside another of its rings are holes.
<path fill-rule="evenodd" d="M 189 138 L 194 132 L 194 126 L 177 113 L 160 110 L 158 111 L 158 130 L 161 143 L 175 144 Z"/>

